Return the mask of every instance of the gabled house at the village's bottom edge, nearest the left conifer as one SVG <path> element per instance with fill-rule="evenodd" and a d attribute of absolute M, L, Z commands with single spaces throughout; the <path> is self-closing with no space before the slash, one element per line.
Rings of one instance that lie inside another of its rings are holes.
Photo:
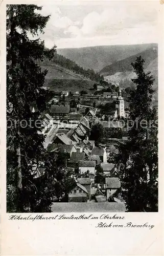
<path fill-rule="evenodd" d="M 88 200 L 88 191 L 87 189 L 81 185 L 80 183 L 77 183 L 75 188 L 73 188 L 68 193 L 68 202 L 87 202 Z"/>

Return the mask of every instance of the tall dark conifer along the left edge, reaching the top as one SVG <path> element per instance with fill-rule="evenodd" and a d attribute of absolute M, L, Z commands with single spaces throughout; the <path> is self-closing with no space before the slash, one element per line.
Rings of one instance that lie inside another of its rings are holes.
<path fill-rule="evenodd" d="M 50 16 L 39 14 L 36 5 L 7 6 L 7 210 L 17 212 L 50 211 L 48 176 L 35 179 L 34 166 L 44 162 L 44 137 L 40 130 L 40 113 L 45 108 L 42 89 L 47 70 L 38 65 L 52 59 L 44 41 L 30 39 L 29 34 L 43 33 Z M 32 106 L 36 111 L 32 111 Z M 31 124 L 30 124 L 31 120 Z M 32 121 L 33 120 L 33 121 Z"/>

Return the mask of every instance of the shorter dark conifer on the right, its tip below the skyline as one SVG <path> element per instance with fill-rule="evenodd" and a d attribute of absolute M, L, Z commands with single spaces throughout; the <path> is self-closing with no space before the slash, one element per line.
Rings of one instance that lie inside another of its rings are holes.
<path fill-rule="evenodd" d="M 116 163 L 120 168 L 122 196 L 128 211 L 158 210 L 157 113 L 152 106 L 153 77 L 144 72 L 144 59 L 136 58 L 132 67 L 135 90 L 129 97 L 128 141 L 119 146 Z"/>

